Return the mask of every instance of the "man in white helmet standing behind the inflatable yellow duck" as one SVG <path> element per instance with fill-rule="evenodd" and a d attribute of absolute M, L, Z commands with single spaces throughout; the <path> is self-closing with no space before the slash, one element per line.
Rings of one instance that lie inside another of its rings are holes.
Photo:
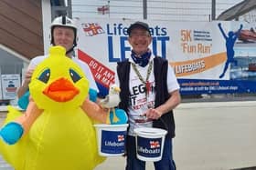
<path fill-rule="evenodd" d="M 90 81 L 90 88 L 92 89 L 91 93 L 99 92 L 98 87 L 93 79 L 91 74 L 90 68 L 84 62 L 80 61 L 79 58 L 74 57 L 74 47 L 77 45 L 77 26 L 75 25 L 74 21 L 71 20 L 67 16 L 59 16 L 55 18 L 50 26 L 50 43 L 51 45 L 61 45 L 66 48 L 66 55 L 69 56 L 75 63 L 80 65 L 84 74 L 87 76 L 88 80 Z M 17 90 L 18 98 L 25 95 L 28 91 L 28 84 L 30 83 L 30 79 L 35 67 L 42 62 L 48 55 L 40 55 L 33 58 L 28 67 L 27 73 L 25 75 L 25 80 L 23 84 Z M 95 100 L 95 96 L 94 99 Z M 20 102 L 20 100 L 19 100 Z M 23 102 L 21 101 L 19 105 L 22 105 Z M 26 105 L 26 104 L 25 104 Z"/>

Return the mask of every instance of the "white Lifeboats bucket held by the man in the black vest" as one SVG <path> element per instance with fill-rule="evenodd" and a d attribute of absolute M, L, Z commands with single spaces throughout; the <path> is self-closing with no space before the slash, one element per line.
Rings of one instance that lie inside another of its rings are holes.
<path fill-rule="evenodd" d="M 136 155 L 142 161 L 159 161 L 163 155 L 167 131 L 160 128 L 141 127 L 136 134 Z"/>

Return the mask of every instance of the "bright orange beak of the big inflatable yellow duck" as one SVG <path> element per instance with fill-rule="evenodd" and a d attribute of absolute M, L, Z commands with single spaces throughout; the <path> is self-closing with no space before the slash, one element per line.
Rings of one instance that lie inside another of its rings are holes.
<path fill-rule="evenodd" d="M 43 91 L 44 95 L 48 95 L 49 98 L 57 102 L 67 102 L 79 93 L 80 90 L 66 78 L 59 78 L 48 85 Z"/>

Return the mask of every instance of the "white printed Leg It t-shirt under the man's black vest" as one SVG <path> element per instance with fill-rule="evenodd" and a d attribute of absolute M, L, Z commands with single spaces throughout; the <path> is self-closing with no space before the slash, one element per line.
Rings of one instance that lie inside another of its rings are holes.
<path fill-rule="evenodd" d="M 133 66 L 131 65 L 130 69 L 130 99 L 129 99 L 129 107 L 128 107 L 128 117 L 129 117 L 129 132 L 128 135 L 134 135 L 134 128 L 137 127 L 152 127 L 152 121 L 145 121 L 145 117 L 140 116 L 143 115 L 144 112 L 151 107 L 151 105 L 155 105 L 155 75 L 154 75 L 154 57 L 151 57 L 151 61 L 153 62 L 152 70 L 150 72 L 148 82 L 150 85 L 150 90 L 148 91 L 147 96 L 145 95 L 145 85 L 139 79 L 138 75 L 136 75 Z M 133 60 L 131 60 L 133 63 Z M 135 64 L 136 65 L 136 64 Z M 146 75 L 148 72 L 149 65 L 142 67 L 140 65 L 136 65 L 137 70 L 140 75 L 142 75 L 144 81 L 146 79 Z M 119 85 L 119 79 L 117 74 L 115 74 L 115 83 Z M 168 92 L 172 93 L 175 90 L 179 89 L 179 85 L 176 80 L 176 75 L 174 73 L 173 68 L 169 65 L 167 72 L 167 88 Z"/>

